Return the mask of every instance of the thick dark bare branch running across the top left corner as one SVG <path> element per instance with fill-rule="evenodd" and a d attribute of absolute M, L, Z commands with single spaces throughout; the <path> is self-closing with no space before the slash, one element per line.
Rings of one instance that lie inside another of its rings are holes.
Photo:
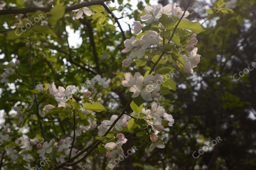
<path fill-rule="evenodd" d="M 100 5 L 107 1 L 110 1 L 110 0 L 96 0 L 96 1 L 90 1 L 90 2 L 83 2 L 83 3 L 77 4 L 77 5 L 72 5 L 72 6 L 66 7 L 65 11 L 68 12 L 68 11 L 73 11 L 76 9 L 80 9 L 80 8 L 88 7 L 88 6 L 92 6 L 92 5 Z M 114 0 L 112 0 L 112 2 L 113 1 Z M 49 12 L 51 9 L 52 9 L 52 5 L 49 5 L 48 7 L 29 6 L 26 8 L 16 8 L 16 9 L 13 9 L 10 7 L 8 9 L 0 10 L 0 15 L 23 14 L 24 16 L 26 16 L 27 13 L 36 12 L 38 10 L 43 11 L 43 12 Z"/>

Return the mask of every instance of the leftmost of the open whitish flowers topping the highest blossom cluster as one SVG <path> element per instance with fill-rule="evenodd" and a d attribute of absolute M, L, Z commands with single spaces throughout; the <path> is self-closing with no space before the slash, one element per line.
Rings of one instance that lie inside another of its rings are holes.
<path fill-rule="evenodd" d="M 147 24 L 152 23 L 153 21 L 156 21 L 155 17 L 157 16 L 160 9 L 161 9 L 160 5 L 154 5 L 153 7 L 146 6 L 144 8 L 146 15 L 140 16 L 140 19 L 147 20 L 146 21 Z"/>

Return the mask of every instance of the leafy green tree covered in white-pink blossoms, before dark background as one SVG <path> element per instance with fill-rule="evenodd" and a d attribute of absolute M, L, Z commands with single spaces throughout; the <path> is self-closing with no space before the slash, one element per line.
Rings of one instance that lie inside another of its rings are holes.
<path fill-rule="evenodd" d="M 197 34 L 205 30 L 189 20 L 191 0 L 140 3 L 133 16 L 109 5 L 0 1 L 2 169 L 113 169 L 124 159 L 134 169 L 159 168 L 125 155 L 150 158 L 180 133 L 170 133 L 175 99 L 166 96 L 179 84 L 174 73 L 191 76 L 200 65 Z M 206 21 L 230 8 L 216 1 Z M 119 23 L 125 15 L 136 20 L 130 32 Z M 67 26 L 80 31 L 81 46 L 70 45 Z"/>

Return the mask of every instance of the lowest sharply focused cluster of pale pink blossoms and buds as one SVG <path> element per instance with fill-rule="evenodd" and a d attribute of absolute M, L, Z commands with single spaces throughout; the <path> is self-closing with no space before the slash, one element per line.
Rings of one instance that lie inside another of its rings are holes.
<path fill-rule="evenodd" d="M 163 142 L 163 138 L 166 136 L 160 135 L 158 137 L 158 135 L 161 131 L 164 130 L 164 127 L 161 125 L 162 121 L 165 121 L 168 126 L 172 126 L 174 124 L 174 119 L 172 115 L 167 114 L 165 112 L 165 109 L 157 105 L 156 102 L 151 103 L 151 109 L 145 110 L 143 108 L 141 113 L 143 113 L 144 116 L 141 117 L 139 116 L 140 114 L 136 112 L 132 112 L 131 116 L 123 115 L 121 119 L 117 121 L 111 131 L 117 132 L 122 131 L 124 128 L 127 128 L 128 122 L 132 119 L 131 117 L 143 119 L 148 123 L 149 126 L 152 127 L 152 131 L 148 134 L 148 137 L 153 142 L 149 147 L 145 149 L 145 152 L 149 154 L 149 152 L 156 147 L 164 148 L 165 145 Z M 110 120 L 103 120 L 101 122 L 101 125 L 98 126 L 99 135 L 102 135 L 105 131 L 107 131 L 117 118 L 117 115 L 113 115 Z M 123 133 L 118 133 L 115 138 L 117 139 L 116 142 L 108 142 L 105 144 L 105 148 L 111 151 L 106 153 L 106 157 L 112 160 L 114 160 L 117 155 L 123 155 L 122 145 L 127 141 Z"/>

